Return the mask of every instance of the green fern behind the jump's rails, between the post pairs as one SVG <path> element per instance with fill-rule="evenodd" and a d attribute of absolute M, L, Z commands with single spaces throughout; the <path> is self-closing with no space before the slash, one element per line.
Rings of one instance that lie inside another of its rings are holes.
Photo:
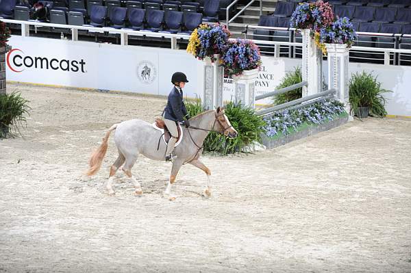
<path fill-rule="evenodd" d="M 275 89 L 286 88 L 288 86 L 301 83 L 301 81 L 303 81 L 303 74 L 301 73 L 301 68 L 297 66 L 294 71 L 286 73 Z M 301 96 L 303 96 L 303 88 L 297 88 L 283 94 L 278 94 L 277 96 L 274 96 L 273 100 L 275 105 L 279 105 L 282 103 L 288 103 L 288 101 L 300 99 Z"/>

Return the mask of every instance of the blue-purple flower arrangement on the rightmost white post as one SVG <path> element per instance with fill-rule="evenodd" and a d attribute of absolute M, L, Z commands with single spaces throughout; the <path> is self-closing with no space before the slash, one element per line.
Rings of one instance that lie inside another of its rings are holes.
<path fill-rule="evenodd" d="M 338 18 L 329 27 L 322 28 L 319 34 L 319 41 L 322 44 L 347 44 L 347 47 L 351 47 L 356 38 L 356 31 L 354 31 L 353 24 L 347 17 Z M 326 50 L 325 53 L 327 53 Z"/>

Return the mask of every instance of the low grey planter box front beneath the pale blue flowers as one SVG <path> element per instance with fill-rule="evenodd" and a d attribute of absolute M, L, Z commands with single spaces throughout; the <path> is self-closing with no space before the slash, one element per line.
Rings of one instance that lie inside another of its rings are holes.
<path fill-rule="evenodd" d="M 273 137 L 268 137 L 266 134 L 262 134 L 262 144 L 266 146 L 267 148 L 275 148 L 284 144 L 287 144 L 288 142 L 292 142 L 294 140 L 299 140 L 301 138 L 307 138 L 310 135 L 314 135 L 316 133 L 320 133 L 323 131 L 327 131 L 329 129 L 338 127 L 340 125 L 343 125 L 348 122 L 348 114 L 340 114 L 338 117 L 334 118 L 334 120 L 330 120 L 327 122 L 323 122 L 319 125 L 315 124 L 308 124 L 308 123 L 303 123 L 299 127 L 297 127 L 297 130 L 293 130 L 288 135 L 275 135 Z"/>

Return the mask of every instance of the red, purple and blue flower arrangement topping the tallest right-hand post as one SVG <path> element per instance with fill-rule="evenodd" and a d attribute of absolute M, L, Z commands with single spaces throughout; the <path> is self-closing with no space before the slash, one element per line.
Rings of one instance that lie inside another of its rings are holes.
<path fill-rule="evenodd" d="M 291 16 L 291 27 L 297 29 L 312 29 L 319 32 L 321 28 L 327 27 L 334 21 L 334 12 L 329 3 L 322 0 L 312 3 L 299 3 Z"/>

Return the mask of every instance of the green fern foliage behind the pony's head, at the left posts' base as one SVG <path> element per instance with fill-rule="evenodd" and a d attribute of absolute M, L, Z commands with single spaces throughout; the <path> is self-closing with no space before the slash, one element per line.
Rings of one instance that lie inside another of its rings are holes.
<path fill-rule="evenodd" d="M 203 112 L 199 99 L 195 102 L 186 101 L 186 108 L 190 116 Z M 260 134 L 264 132 L 265 122 L 253 109 L 229 102 L 225 105 L 225 114 L 238 132 L 237 138 L 229 139 L 225 135 L 211 132 L 204 141 L 205 151 L 227 155 L 241 152 L 242 148 L 255 141 L 261 142 Z"/>

